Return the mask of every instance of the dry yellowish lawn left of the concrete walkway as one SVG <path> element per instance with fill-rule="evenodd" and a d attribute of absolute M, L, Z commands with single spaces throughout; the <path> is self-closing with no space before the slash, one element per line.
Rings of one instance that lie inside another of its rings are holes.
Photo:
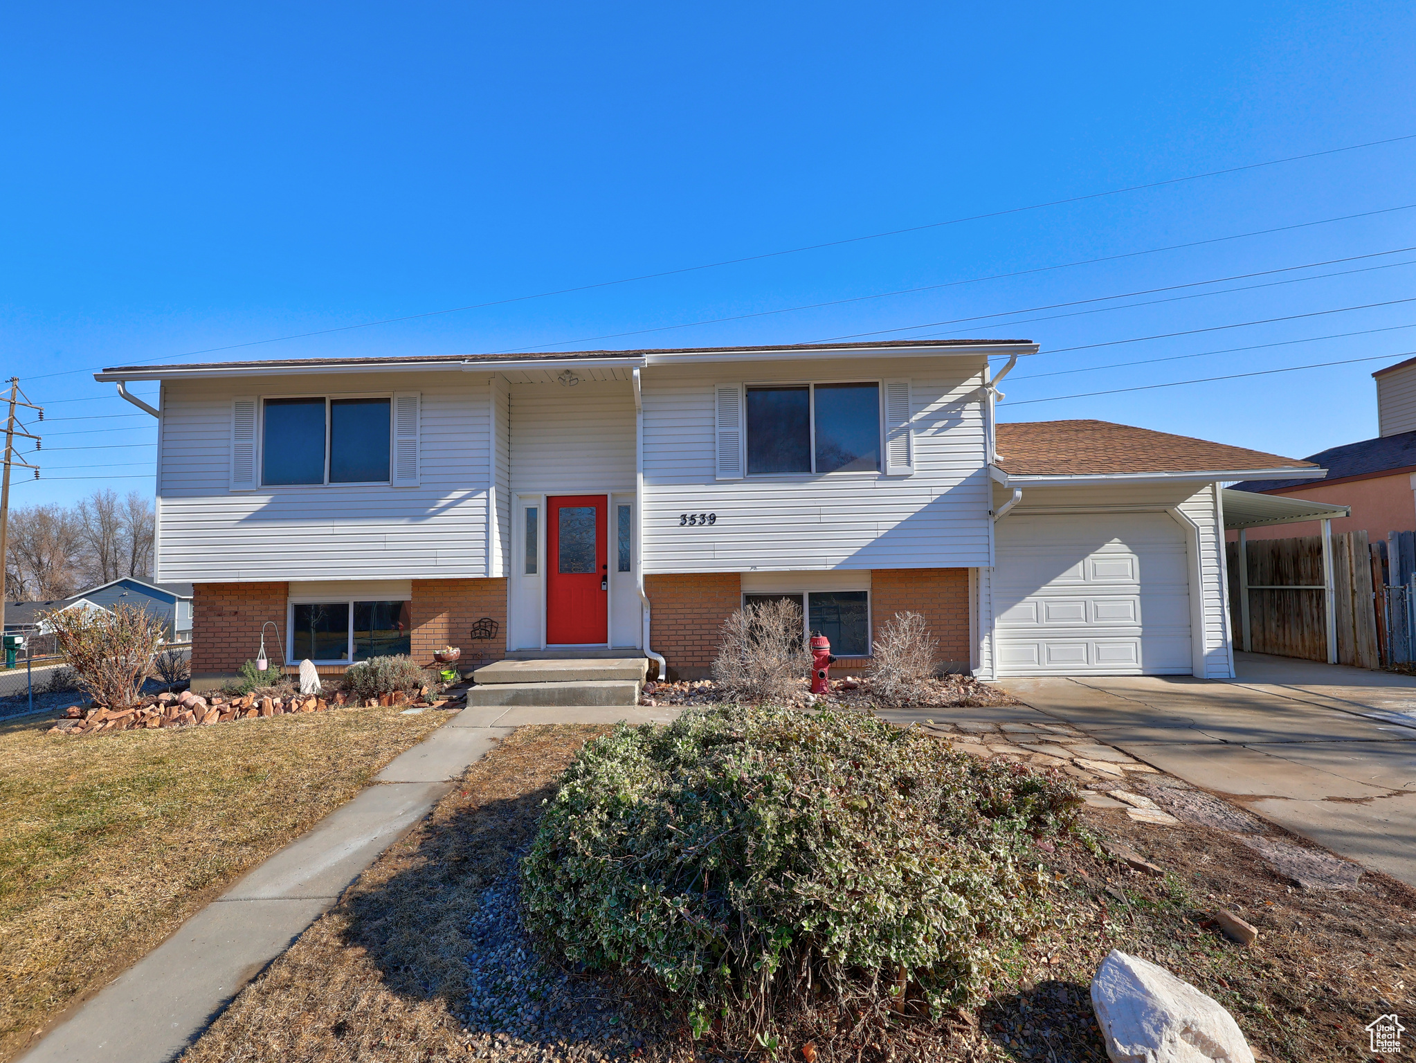
<path fill-rule="evenodd" d="M 445 719 L 344 709 L 86 739 L 0 723 L 0 1060 Z"/>

